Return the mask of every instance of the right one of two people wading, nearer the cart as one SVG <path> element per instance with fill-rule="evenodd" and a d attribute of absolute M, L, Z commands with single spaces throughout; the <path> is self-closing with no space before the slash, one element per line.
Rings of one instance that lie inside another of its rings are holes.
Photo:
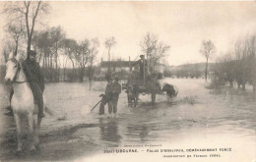
<path fill-rule="evenodd" d="M 118 98 L 119 94 L 121 93 L 121 84 L 118 83 L 119 79 L 116 77 L 114 79 L 114 82 L 112 83 L 112 109 L 108 109 L 108 113 L 111 114 L 112 117 L 116 116 L 116 111 L 117 111 L 117 103 L 118 103 Z"/>

